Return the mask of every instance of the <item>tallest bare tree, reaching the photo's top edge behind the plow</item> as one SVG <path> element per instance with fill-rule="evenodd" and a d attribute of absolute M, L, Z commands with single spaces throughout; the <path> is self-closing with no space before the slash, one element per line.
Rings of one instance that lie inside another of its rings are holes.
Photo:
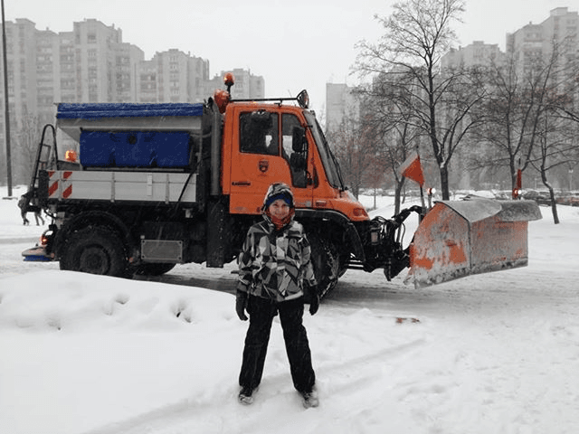
<path fill-rule="evenodd" d="M 360 42 L 356 71 L 384 74 L 389 87 L 411 108 L 407 122 L 428 137 L 441 176 L 443 199 L 449 199 L 449 168 L 454 151 L 481 119 L 470 117 L 484 88 L 470 71 L 441 71 L 441 56 L 456 40 L 463 0 L 406 0 L 393 6 L 378 43 Z"/>

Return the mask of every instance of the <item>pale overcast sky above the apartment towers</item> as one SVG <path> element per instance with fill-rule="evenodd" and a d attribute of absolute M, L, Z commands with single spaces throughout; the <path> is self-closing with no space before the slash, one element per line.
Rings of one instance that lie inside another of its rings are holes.
<path fill-rule="evenodd" d="M 387 16 L 394 0 L 5 0 L 5 19 L 28 18 L 36 28 L 71 32 L 95 18 L 120 28 L 123 42 L 151 59 L 176 48 L 209 61 L 210 74 L 243 68 L 265 79 L 267 97 L 307 89 L 324 110 L 326 83 L 356 84 L 356 42 L 377 41 L 374 15 Z M 461 45 L 498 43 L 555 7 L 577 11 L 576 0 L 467 0 L 457 25 Z"/>

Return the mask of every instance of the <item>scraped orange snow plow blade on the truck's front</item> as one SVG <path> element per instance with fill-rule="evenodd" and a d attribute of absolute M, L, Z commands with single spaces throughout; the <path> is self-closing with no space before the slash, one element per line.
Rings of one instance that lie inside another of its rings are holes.
<path fill-rule="evenodd" d="M 435 203 L 410 245 L 405 283 L 427 287 L 528 262 L 528 222 L 541 219 L 534 201 L 467 198 Z"/>

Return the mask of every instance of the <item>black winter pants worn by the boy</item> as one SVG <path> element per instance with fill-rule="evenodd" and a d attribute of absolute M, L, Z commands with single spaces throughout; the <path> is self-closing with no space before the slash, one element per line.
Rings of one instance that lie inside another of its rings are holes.
<path fill-rule="evenodd" d="M 275 303 L 266 298 L 250 296 L 247 311 L 250 314 L 250 326 L 245 336 L 240 386 L 253 390 L 260 385 L 270 342 L 271 323 L 279 313 L 293 385 L 299 392 L 311 392 L 316 375 L 311 365 L 308 335 L 302 324 L 303 299 Z"/>

